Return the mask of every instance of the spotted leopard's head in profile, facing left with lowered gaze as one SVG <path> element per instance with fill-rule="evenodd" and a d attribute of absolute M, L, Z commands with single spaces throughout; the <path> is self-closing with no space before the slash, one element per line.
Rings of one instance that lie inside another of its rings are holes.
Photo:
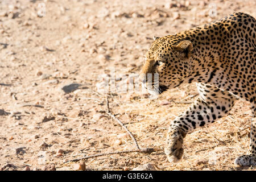
<path fill-rule="evenodd" d="M 184 82 L 191 71 L 192 43 L 176 35 L 156 38 L 146 53 L 139 78 L 151 94 Z"/>

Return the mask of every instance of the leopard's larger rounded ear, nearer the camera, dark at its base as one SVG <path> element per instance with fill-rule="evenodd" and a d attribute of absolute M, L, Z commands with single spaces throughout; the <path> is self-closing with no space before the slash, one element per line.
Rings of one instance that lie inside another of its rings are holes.
<path fill-rule="evenodd" d="M 188 40 L 183 40 L 177 46 L 173 46 L 175 51 L 180 53 L 181 58 L 189 58 L 193 51 L 193 45 Z"/>

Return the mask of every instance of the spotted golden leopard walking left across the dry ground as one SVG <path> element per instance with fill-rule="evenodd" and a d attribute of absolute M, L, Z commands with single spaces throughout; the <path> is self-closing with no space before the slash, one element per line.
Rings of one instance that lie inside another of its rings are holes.
<path fill-rule="evenodd" d="M 242 99 L 251 105 L 250 150 L 238 156 L 234 164 L 256 166 L 256 23 L 253 16 L 235 12 L 174 35 L 155 37 L 146 52 L 139 79 L 148 92 L 155 94 L 181 84 L 196 84 L 198 98 L 168 127 L 164 153 L 170 163 L 182 158 L 183 141 L 189 132 L 216 122 L 229 113 L 236 100 Z"/>

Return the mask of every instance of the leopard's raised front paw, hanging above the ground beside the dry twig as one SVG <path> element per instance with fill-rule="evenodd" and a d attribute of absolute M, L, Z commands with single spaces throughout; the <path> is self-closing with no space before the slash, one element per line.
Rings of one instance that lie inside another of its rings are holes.
<path fill-rule="evenodd" d="M 167 159 L 171 163 L 179 162 L 183 155 L 183 138 L 185 137 L 185 133 L 179 130 L 171 130 L 168 133 L 168 144 L 167 147 L 164 148 L 164 152 L 167 155 Z"/>

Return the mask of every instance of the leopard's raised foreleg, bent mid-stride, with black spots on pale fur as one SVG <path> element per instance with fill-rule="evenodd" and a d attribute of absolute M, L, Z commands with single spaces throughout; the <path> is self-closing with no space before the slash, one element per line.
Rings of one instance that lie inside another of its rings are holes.
<path fill-rule="evenodd" d="M 211 85 L 197 84 L 197 88 L 200 97 L 195 104 L 171 122 L 167 135 L 167 146 L 164 150 L 169 162 L 177 162 L 181 159 L 183 139 L 189 131 L 223 117 L 232 109 L 236 100 L 230 93 Z"/>

